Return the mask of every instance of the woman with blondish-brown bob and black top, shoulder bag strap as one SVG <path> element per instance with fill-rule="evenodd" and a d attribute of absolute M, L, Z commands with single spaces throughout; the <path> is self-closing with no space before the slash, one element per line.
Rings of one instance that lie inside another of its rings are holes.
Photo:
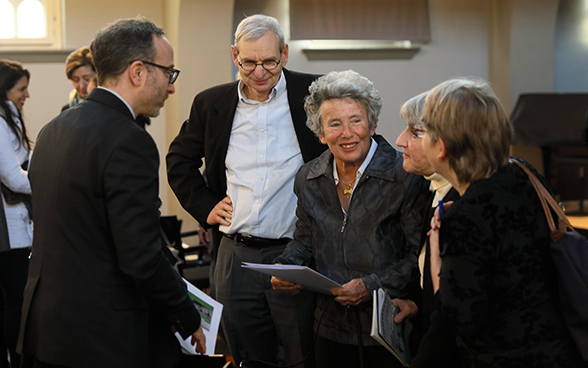
<path fill-rule="evenodd" d="M 429 162 L 461 195 L 442 219 L 436 211 L 430 235 L 436 313 L 456 335 L 459 366 L 583 366 L 559 307 L 545 214 L 509 163 L 512 128 L 494 91 L 478 79 L 443 82 L 423 123 Z"/>

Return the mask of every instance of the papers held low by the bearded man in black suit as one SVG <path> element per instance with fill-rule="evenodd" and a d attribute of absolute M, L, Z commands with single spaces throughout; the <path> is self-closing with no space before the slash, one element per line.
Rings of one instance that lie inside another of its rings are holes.
<path fill-rule="evenodd" d="M 214 355 L 220 318 L 223 313 L 223 305 L 212 299 L 196 286 L 190 284 L 186 279 L 184 279 L 184 282 L 188 286 L 188 295 L 190 295 L 190 299 L 192 299 L 194 306 L 196 306 L 196 309 L 200 312 L 202 332 L 204 332 L 204 336 L 206 336 L 205 355 Z M 182 352 L 184 354 L 196 355 L 196 346 L 190 344 L 191 336 L 184 340 L 180 334 L 176 332 L 176 337 L 180 341 Z"/>

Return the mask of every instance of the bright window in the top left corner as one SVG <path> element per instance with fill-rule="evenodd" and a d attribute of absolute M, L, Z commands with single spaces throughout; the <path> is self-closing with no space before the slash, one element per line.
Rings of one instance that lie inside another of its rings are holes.
<path fill-rule="evenodd" d="M 60 49 L 62 0 L 0 0 L 0 50 Z"/>

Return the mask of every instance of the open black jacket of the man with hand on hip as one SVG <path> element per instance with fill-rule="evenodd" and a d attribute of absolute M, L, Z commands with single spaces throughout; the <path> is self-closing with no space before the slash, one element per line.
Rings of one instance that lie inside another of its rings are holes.
<path fill-rule="evenodd" d="M 290 114 L 304 162 L 318 157 L 326 146 L 306 126 L 304 98 L 319 76 L 283 69 L 288 90 Z M 238 82 L 212 87 L 199 93 L 192 103 L 190 117 L 171 143 L 167 154 L 167 175 L 182 206 L 202 226 L 216 204 L 226 197 L 225 158 L 238 103 Z M 206 181 L 198 170 L 206 162 Z M 213 241 L 220 243 L 218 226 Z"/>

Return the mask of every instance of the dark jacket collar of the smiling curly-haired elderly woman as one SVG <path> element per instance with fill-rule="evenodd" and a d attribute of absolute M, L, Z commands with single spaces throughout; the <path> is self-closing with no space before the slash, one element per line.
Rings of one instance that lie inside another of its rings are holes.
<path fill-rule="evenodd" d="M 396 160 L 398 159 L 398 152 L 390 146 L 390 144 L 381 135 L 375 134 L 373 136 L 378 148 L 372 158 L 372 161 L 362 175 L 362 178 L 368 176 L 378 177 L 384 180 L 394 181 L 394 170 Z M 329 179 L 333 178 L 333 154 L 330 150 L 326 150 L 316 160 L 310 163 L 311 167 L 308 171 L 306 179 L 316 179 L 320 176 L 326 176 Z"/>

